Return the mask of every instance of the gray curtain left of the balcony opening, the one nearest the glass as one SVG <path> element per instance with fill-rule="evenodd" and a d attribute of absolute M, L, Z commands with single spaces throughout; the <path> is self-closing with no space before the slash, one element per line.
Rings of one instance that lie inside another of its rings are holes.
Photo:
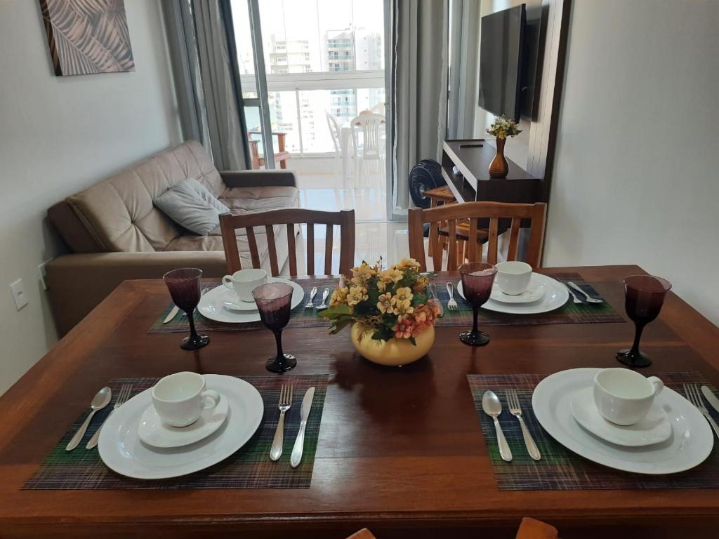
<path fill-rule="evenodd" d="M 247 133 L 237 106 L 220 1 L 192 0 L 192 11 L 212 159 L 219 170 L 247 168 Z"/>

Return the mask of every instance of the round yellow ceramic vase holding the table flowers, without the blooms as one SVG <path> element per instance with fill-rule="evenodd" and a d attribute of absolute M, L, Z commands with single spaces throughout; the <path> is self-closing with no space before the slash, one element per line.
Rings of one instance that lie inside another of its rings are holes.
<path fill-rule="evenodd" d="M 434 344 L 434 326 L 429 326 L 415 337 L 416 346 L 406 338 L 377 341 L 362 324 L 352 326 L 352 344 L 359 355 L 380 365 L 398 367 L 417 361 L 425 356 Z"/>

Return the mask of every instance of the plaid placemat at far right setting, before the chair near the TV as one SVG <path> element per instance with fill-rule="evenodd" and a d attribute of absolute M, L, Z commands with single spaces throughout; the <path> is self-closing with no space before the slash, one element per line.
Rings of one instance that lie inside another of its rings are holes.
<path fill-rule="evenodd" d="M 547 274 L 548 277 L 558 280 L 559 282 L 573 281 L 582 290 L 587 290 L 595 298 L 601 298 L 597 291 L 582 279 L 578 273 L 552 273 Z M 472 326 L 472 305 L 465 301 L 456 285 L 459 277 L 434 277 L 432 282 L 436 287 L 439 300 L 444 307 L 444 316 L 439 318 L 437 326 L 454 327 L 454 326 Z M 446 308 L 449 294 L 446 290 L 446 283 L 452 282 L 455 285 L 454 299 L 457 301 L 459 309 L 449 310 Z M 533 315 L 516 315 L 508 313 L 495 313 L 494 311 L 480 309 L 479 325 L 482 326 L 539 326 L 542 324 L 572 324 L 572 323 L 607 323 L 607 322 L 624 322 L 614 308 L 605 301 L 604 303 L 573 303 L 572 297 L 556 310 L 550 313 L 541 313 Z"/>

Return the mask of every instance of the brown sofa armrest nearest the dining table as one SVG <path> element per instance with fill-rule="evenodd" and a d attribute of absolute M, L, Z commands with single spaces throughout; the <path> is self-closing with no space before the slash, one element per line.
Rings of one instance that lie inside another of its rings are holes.
<path fill-rule="evenodd" d="M 197 267 L 203 277 L 222 277 L 222 251 L 65 254 L 45 265 L 50 306 L 60 335 L 93 310 L 121 282 L 160 279 L 178 267 Z"/>

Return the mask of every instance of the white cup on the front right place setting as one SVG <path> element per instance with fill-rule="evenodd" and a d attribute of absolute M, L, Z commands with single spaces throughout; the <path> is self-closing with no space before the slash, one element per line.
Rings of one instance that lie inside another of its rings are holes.
<path fill-rule="evenodd" d="M 594 377 L 594 402 L 606 420 L 633 425 L 649 413 L 662 389 L 664 382 L 656 376 L 646 378 L 629 369 L 603 369 Z"/>

